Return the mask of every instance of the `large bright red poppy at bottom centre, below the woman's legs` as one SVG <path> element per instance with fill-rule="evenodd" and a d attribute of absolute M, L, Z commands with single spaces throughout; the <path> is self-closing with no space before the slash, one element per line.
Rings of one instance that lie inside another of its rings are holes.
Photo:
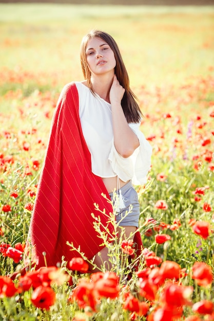
<path fill-rule="evenodd" d="M 95 289 L 100 296 L 114 299 L 119 295 L 119 277 L 114 272 L 105 272 L 95 283 Z"/>

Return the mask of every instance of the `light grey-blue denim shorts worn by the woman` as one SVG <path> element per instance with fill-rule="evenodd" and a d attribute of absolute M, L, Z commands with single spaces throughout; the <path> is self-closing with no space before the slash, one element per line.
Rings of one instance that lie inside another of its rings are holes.
<path fill-rule="evenodd" d="M 119 191 L 116 191 L 115 193 L 119 194 Z M 140 204 L 138 200 L 138 193 L 132 186 L 131 180 L 129 180 L 129 182 L 126 185 L 121 187 L 121 194 L 124 199 L 125 208 L 120 210 L 120 212 L 115 215 L 116 222 L 119 223 L 119 226 L 135 226 L 138 228 L 140 217 Z M 114 195 L 114 193 L 109 193 L 111 201 L 113 200 Z M 132 209 L 131 212 L 127 215 L 126 213 L 130 211 L 130 205 L 132 205 Z"/>

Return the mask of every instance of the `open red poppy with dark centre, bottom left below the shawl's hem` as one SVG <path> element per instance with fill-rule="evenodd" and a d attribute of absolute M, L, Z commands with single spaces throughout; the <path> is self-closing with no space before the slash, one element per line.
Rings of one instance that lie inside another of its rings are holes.
<path fill-rule="evenodd" d="M 31 302 L 36 308 L 49 310 L 55 303 L 56 294 L 50 287 L 39 286 L 31 295 Z"/>

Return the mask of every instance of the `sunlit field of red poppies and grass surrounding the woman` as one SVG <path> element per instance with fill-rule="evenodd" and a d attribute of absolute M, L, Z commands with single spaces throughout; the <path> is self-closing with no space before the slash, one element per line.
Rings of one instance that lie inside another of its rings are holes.
<path fill-rule="evenodd" d="M 0 22 L 0 320 L 214 320 L 214 8 L 0 4 Z M 118 43 L 153 148 L 135 187 L 144 249 L 135 269 L 94 209 L 111 269 L 87 273 L 80 249 L 24 274 L 52 115 L 93 28 Z"/>

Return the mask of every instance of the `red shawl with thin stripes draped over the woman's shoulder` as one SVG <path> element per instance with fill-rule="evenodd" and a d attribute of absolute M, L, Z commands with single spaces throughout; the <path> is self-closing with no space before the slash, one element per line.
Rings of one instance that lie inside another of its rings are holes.
<path fill-rule="evenodd" d="M 93 227 L 91 213 L 100 215 L 104 230 L 112 232 L 107 216 L 94 209 L 99 205 L 106 214 L 112 212 L 111 204 L 101 195 L 109 197 L 101 177 L 91 172 L 90 152 L 86 145 L 79 117 L 79 97 L 76 86 L 64 87 L 53 116 L 51 133 L 43 171 L 38 184 L 34 209 L 29 227 L 29 244 L 33 246 L 36 266 L 69 262 L 80 256 L 71 251 L 66 242 L 73 243 L 88 258 L 103 246 L 103 240 Z M 139 233 L 140 235 L 140 233 Z M 142 241 L 138 237 L 139 247 Z"/>

